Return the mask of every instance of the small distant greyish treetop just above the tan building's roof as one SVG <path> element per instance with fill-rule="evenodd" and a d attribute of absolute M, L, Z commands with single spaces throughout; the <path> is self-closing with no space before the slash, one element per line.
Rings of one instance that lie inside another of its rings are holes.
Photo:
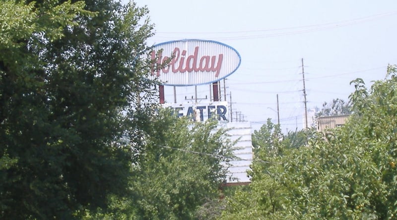
<path fill-rule="evenodd" d="M 321 116 L 334 116 L 334 115 L 346 115 L 351 113 L 350 103 L 346 103 L 342 99 L 333 99 L 332 103 L 324 102 L 323 108 L 320 112 L 316 113 L 316 117 Z"/>

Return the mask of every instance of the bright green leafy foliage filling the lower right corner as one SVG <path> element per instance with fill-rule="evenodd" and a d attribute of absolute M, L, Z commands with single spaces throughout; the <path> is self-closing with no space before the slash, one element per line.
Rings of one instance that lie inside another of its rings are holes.
<path fill-rule="evenodd" d="M 251 192 L 229 198 L 224 219 L 396 218 L 396 67 L 370 90 L 361 79 L 352 83 L 348 123 L 254 163 Z"/>

